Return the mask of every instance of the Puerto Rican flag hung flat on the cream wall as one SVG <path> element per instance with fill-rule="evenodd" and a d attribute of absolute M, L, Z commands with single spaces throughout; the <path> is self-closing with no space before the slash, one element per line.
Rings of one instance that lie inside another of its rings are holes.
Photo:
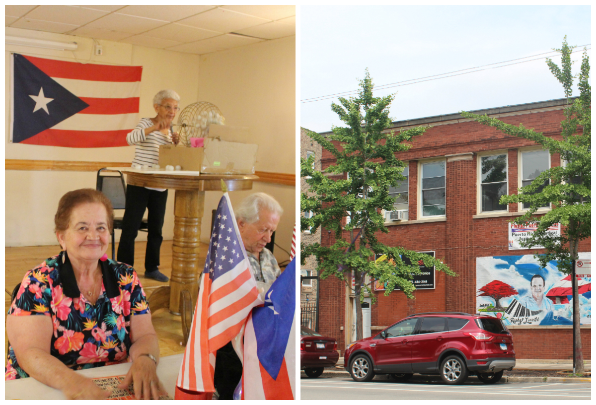
<path fill-rule="evenodd" d="M 11 54 L 10 140 L 71 148 L 123 147 L 139 121 L 142 66 Z"/>

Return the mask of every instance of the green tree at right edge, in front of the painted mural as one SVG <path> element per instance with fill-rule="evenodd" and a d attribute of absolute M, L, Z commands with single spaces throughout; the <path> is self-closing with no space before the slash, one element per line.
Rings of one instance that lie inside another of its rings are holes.
<path fill-rule="evenodd" d="M 567 98 L 567 107 L 564 110 L 565 119 L 561 121 L 561 136 L 544 136 L 541 132 L 526 129 L 522 124 L 514 126 L 505 124 L 498 119 L 488 116 L 478 116 L 471 113 L 462 113 L 462 116 L 471 118 L 479 123 L 496 127 L 508 135 L 530 139 L 551 154 L 560 154 L 565 164 L 552 167 L 540 173 L 530 185 L 520 188 L 515 195 L 504 195 L 501 204 L 524 203 L 529 205 L 529 210 L 522 216 L 513 220 L 514 223 L 527 221 L 539 222 L 538 230 L 522 242 L 522 246 L 544 246 L 547 253 L 536 254 L 542 267 L 548 261 L 558 261 L 559 269 L 570 274 L 573 260 L 578 258 L 578 245 L 583 239 L 589 238 L 591 233 L 591 86 L 589 85 L 589 57 L 584 49 L 582 64 L 577 76 L 572 75 L 571 54 L 574 46 L 567 45 L 567 37 L 563 40 L 561 49 L 554 49 L 561 54 L 561 67 L 552 60 L 547 59 L 548 67 L 552 74 L 563 85 Z M 572 95 L 573 79 L 578 78 L 580 95 L 570 102 Z M 542 216 L 535 216 L 540 207 L 551 205 L 551 210 Z M 555 236 L 548 233 L 548 227 L 560 223 L 561 235 Z M 579 300 L 578 284 L 573 279 L 573 328 L 575 328 L 574 354 L 576 372 L 583 373 L 583 353 L 581 335 L 579 334 Z"/>

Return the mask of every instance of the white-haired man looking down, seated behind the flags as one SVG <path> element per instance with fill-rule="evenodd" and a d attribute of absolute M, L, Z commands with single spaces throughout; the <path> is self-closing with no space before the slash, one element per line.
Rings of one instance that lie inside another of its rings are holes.
<path fill-rule="evenodd" d="M 280 223 L 283 213 L 280 203 L 264 192 L 244 198 L 235 208 L 236 222 L 250 266 L 259 284 L 271 285 L 280 276 L 280 266 L 273 253 L 265 247 Z M 242 363 L 231 342 L 218 350 L 213 382 L 220 400 L 233 399 L 234 389 L 242 376 Z"/>

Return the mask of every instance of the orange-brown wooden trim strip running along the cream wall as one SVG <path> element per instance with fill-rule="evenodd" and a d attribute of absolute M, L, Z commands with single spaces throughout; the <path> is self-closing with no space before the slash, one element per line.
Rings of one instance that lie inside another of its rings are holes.
<path fill-rule="evenodd" d="M 97 172 L 102 167 L 125 167 L 130 162 L 86 162 L 61 160 L 5 159 L 4 170 L 33 170 L 55 172 Z M 254 172 L 257 182 L 296 186 L 296 176 L 288 173 Z"/>

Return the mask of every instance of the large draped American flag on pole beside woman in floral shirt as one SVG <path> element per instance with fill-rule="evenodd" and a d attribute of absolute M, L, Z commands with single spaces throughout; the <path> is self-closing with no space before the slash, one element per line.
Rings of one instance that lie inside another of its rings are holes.
<path fill-rule="evenodd" d="M 219 201 L 193 325 L 176 386 L 214 392 L 215 352 L 231 341 L 250 310 L 263 304 L 228 193 Z"/>

